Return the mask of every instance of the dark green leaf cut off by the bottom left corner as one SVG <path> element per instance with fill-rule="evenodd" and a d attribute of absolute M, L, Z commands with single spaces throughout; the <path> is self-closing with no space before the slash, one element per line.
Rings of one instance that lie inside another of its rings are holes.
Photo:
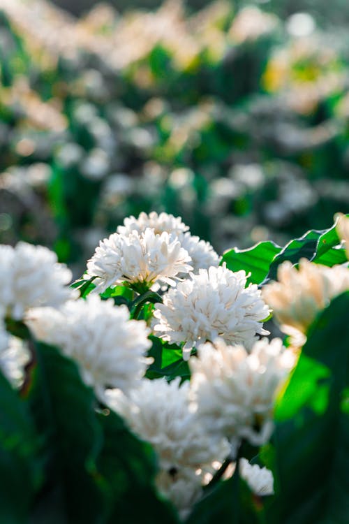
<path fill-rule="evenodd" d="M 0 372 L 0 522 L 27 523 L 42 481 L 39 440 L 27 405 Z"/>

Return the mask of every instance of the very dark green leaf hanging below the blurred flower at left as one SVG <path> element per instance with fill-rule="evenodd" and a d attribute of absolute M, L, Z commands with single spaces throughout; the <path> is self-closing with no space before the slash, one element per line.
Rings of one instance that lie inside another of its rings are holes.
<path fill-rule="evenodd" d="M 103 432 L 96 421 L 94 393 L 82 383 L 77 365 L 54 347 L 36 344 L 36 357 L 27 400 L 45 438 L 46 483 L 39 503 L 55 492 L 59 509 L 52 508 L 52 518 L 62 511 L 68 522 L 99 523 L 103 494 L 96 458 Z"/>

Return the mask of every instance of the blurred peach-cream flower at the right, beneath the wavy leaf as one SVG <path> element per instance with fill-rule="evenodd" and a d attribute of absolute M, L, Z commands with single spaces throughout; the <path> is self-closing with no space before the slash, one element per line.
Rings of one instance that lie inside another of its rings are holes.
<path fill-rule="evenodd" d="M 329 305 L 332 298 L 349 289 L 349 270 L 341 265 L 325 265 L 299 261 L 297 270 L 289 261 L 278 268 L 278 281 L 267 284 L 262 296 L 274 311 L 281 330 L 296 344 L 304 343 L 305 334 L 315 316 Z"/>

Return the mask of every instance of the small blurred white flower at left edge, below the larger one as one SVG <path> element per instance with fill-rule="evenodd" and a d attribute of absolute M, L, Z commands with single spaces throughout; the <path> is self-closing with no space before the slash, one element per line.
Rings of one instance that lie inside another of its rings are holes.
<path fill-rule="evenodd" d="M 6 334 L 7 335 L 7 334 Z M 24 381 L 24 367 L 30 360 L 27 342 L 0 333 L 0 370 L 15 388 Z"/>

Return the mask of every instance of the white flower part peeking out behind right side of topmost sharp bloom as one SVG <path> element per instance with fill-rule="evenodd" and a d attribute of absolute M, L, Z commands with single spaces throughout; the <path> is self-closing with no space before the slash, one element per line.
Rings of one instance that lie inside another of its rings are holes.
<path fill-rule="evenodd" d="M 218 266 L 219 256 L 209 242 L 188 232 L 179 235 L 178 240 L 191 257 L 193 273 L 198 273 L 200 269 L 209 269 L 212 265 Z"/>

